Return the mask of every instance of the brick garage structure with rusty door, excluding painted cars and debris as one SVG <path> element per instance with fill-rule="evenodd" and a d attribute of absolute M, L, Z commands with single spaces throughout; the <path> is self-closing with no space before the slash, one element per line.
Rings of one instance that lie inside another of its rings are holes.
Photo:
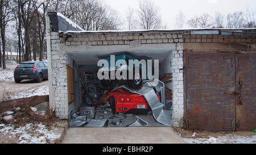
<path fill-rule="evenodd" d="M 101 57 L 128 52 L 159 60 L 160 76 L 172 73 L 166 83 L 172 98 L 165 102 L 170 126 L 256 128 L 255 28 L 84 31 L 48 12 L 47 52 L 50 108 L 60 119 L 70 119 L 83 102 L 81 74 L 86 77 Z"/>

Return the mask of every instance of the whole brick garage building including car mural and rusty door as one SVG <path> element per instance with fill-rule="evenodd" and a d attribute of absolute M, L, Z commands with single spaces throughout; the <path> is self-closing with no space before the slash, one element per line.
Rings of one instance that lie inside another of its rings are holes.
<path fill-rule="evenodd" d="M 256 128 L 256 29 L 85 31 L 47 14 L 49 106 L 70 127 Z"/>

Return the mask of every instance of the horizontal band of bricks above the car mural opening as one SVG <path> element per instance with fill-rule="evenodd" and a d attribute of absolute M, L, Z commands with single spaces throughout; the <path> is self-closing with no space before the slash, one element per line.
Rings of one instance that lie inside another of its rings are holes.
<path fill-rule="evenodd" d="M 141 44 L 183 43 L 181 33 L 113 33 L 84 34 L 67 37 L 65 45 L 129 45 L 130 41 L 140 40 Z"/>

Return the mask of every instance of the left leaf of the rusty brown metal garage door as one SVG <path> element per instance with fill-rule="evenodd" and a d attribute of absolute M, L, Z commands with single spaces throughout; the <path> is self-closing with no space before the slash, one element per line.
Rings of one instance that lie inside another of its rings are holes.
<path fill-rule="evenodd" d="M 188 53 L 186 61 L 187 128 L 234 131 L 235 55 Z"/>

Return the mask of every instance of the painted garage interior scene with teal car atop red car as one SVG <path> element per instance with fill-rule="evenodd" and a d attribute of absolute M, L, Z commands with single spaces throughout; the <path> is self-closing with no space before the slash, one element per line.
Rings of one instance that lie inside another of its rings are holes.
<path fill-rule="evenodd" d="M 94 65 L 77 58 L 84 56 L 86 60 L 86 52 L 68 54 L 68 60 L 73 62 L 72 68 L 75 68 L 75 81 L 79 81 L 76 86 L 78 91 L 72 89 L 73 84 L 68 85 L 69 94 L 72 94 L 70 98 L 76 96 L 70 103 L 80 104 L 78 108 L 69 110 L 70 127 L 172 125 L 172 91 L 166 86 L 171 82 L 172 74 L 164 73 L 159 78 L 159 60 L 136 55 L 137 52 L 91 55 L 90 58 L 98 60 L 92 61 Z"/>

